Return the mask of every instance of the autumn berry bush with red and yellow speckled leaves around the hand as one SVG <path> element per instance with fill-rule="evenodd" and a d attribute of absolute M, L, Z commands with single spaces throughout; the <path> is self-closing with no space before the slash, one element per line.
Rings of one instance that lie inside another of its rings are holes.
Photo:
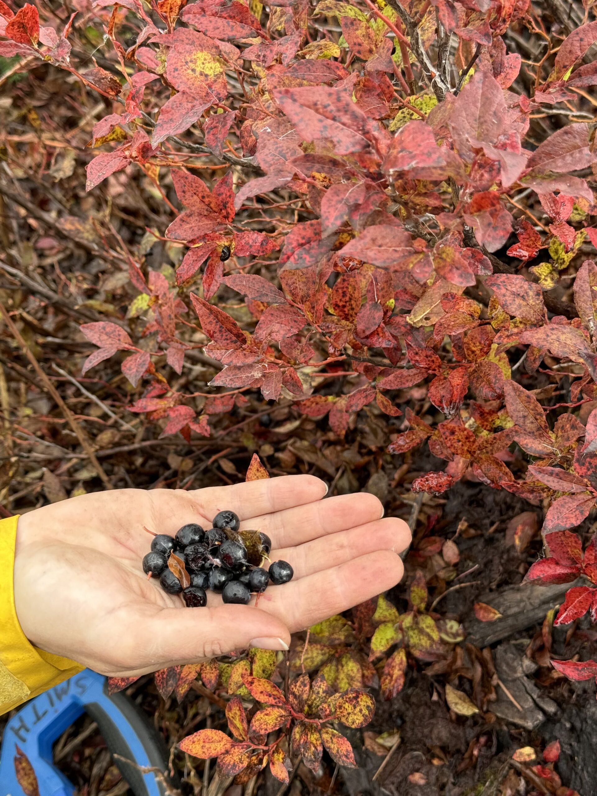
<path fill-rule="evenodd" d="M 526 579 L 576 582 L 553 625 L 597 620 L 595 537 L 583 545 L 572 530 L 597 497 L 594 3 L 0 0 L 0 14 L 2 80 L 31 103 L 50 71 L 92 119 L 72 156 L 53 149 L 57 125 L 38 111 L 37 139 L 15 128 L 4 145 L 12 174 L 29 148 L 20 174 L 33 182 L 68 180 L 84 162 L 87 215 L 56 215 L 54 193 L 41 209 L 10 185 L 5 196 L 46 233 L 48 262 L 65 238 L 100 263 L 71 283 L 82 297 L 71 316 L 85 321 L 76 345 L 96 346 L 77 375 L 121 371 L 122 423 L 199 446 L 236 432 L 256 451 L 283 410 L 279 434 L 304 433 L 267 468 L 254 457 L 248 478 L 314 467 L 349 491 L 351 468 L 389 462 L 414 521 L 456 482 L 506 490 L 544 511 L 544 557 Z M 0 266 L 40 289 L 11 264 L 9 232 Z M 209 466 L 223 458 L 238 477 L 233 450 Z M 96 477 L 118 480 L 91 455 Z M 413 474 L 414 457 L 435 464 Z M 289 749 L 316 770 L 322 744 L 353 765 L 330 723 L 361 727 L 364 687 L 379 678 L 392 698 L 409 663 L 464 639 L 427 607 L 429 580 L 441 595 L 458 562 L 433 522 L 407 568 L 407 611 L 380 596 L 331 618 L 286 670 L 251 650 L 158 673 L 166 697 L 197 676 L 231 696 L 232 737 L 204 729 L 180 748 L 217 756 L 237 782 L 267 763 L 286 782 Z M 521 524 L 517 549 L 533 533 Z M 425 570 L 440 553 L 443 569 Z M 597 676 L 595 661 L 552 662 Z"/>

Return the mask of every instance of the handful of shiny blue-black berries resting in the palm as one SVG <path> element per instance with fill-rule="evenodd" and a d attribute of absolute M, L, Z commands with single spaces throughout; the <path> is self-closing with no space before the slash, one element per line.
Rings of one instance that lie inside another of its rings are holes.
<path fill-rule="evenodd" d="M 224 603 L 246 605 L 252 593 L 268 584 L 287 583 L 294 572 L 286 561 L 274 561 L 269 570 L 263 559 L 271 550 L 271 539 L 260 531 L 241 531 L 233 511 L 220 511 L 213 528 L 189 522 L 176 536 L 158 533 L 151 551 L 143 558 L 143 572 L 159 578 L 168 594 L 182 594 L 189 608 L 207 603 L 207 590 L 222 595 Z"/>

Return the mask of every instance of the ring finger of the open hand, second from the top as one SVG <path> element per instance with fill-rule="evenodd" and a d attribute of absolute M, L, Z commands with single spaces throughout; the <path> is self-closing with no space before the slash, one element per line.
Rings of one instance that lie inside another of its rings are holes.
<path fill-rule="evenodd" d="M 276 548 L 295 547 L 330 533 L 379 520 L 383 514 L 384 507 L 378 498 L 361 492 L 328 497 L 324 501 L 254 517 L 240 527 L 252 527 L 267 533 Z"/>

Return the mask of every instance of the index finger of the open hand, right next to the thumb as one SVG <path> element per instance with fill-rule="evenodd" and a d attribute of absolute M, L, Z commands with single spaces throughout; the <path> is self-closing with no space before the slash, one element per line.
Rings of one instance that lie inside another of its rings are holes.
<path fill-rule="evenodd" d="M 403 574 L 400 556 L 379 550 L 283 586 L 271 586 L 259 595 L 259 608 L 295 633 L 387 591 Z"/>

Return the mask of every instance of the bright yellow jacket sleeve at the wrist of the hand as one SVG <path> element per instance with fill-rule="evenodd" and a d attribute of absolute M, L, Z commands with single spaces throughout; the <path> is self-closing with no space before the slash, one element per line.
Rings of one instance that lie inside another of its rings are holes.
<path fill-rule="evenodd" d="M 0 520 L 0 715 L 80 672 L 67 657 L 29 643 L 14 607 L 14 544 L 18 517 Z"/>

